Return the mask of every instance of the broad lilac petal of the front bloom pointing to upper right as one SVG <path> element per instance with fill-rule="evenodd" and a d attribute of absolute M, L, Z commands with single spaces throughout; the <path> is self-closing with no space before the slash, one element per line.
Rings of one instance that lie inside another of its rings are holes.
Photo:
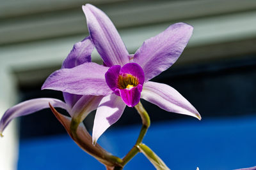
<path fill-rule="evenodd" d="M 183 52 L 192 32 L 191 25 L 177 23 L 143 43 L 134 54 L 133 62 L 143 68 L 145 82 L 172 66 Z"/>

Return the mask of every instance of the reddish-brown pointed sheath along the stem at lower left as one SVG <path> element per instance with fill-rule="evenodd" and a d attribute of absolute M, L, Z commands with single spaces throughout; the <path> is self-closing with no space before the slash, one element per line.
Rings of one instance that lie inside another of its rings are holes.
<path fill-rule="evenodd" d="M 111 155 L 109 155 L 109 153 L 106 152 L 106 150 L 104 150 L 100 145 L 92 145 L 92 136 L 90 136 L 90 134 L 84 127 L 84 124 L 79 124 L 79 126 L 77 127 L 76 136 L 73 136 L 72 132 L 70 131 L 71 118 L 61 115 L 60 113 L 58 113 L 58 111 L 54 109 L 53 106 L 51 106 L 51 104 L 49 105 L 52 113 L 54 113 L 54 115 L 61 122 L 63 127 L 65 127 L 69 136 L 77 143 L 78 146 L 80 146 L 80 148 L 84 150 L 84 152 L 92 155 L 103 164 L 113 166 L 113 163 L 109 162 L 109 160 L 106 159 L 106 157 L 109 157 Z"/>

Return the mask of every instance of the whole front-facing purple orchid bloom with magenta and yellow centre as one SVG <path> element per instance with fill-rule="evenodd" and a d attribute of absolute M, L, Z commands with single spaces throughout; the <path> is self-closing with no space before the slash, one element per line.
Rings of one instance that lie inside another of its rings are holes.
<path fill-rule="evenodd" d="M 42 89 L 70 94 L 104 96 L 93 125 L 93 143 L 122 115 L 125 106 L 133 107 L 140 98 L 160 108 L 201 119 L 196 109 L 172 87 L 149 81 L 179 58 L 193 32 L 184 23 L 170 25 L 157 36 L 147 39 L 134 55 L 129 55 L 124 42 L 108 16 L 95 6 L 83 6 L 93 45 L 104 66 L 86 62 L 52 73 Z"/>

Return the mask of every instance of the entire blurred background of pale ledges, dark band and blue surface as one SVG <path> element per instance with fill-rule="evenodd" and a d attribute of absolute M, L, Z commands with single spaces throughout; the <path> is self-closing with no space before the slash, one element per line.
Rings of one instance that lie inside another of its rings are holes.
<path fill-rule="evenodd" d="M 116 25 L 130 53 L 175 22 L 194 33 L 179 60 L 153 81 L 171 85 L 202 116 L 168 113 L 142 101 L 152 120 L 144 143 L 170 169 L 256 166 L 255 0 L 0 0 L 0 115 L 36 97 L 63 99 L 40 88 L 74 43 L 88 36 L 81 6 L 92 3 Z M 101 62 L 97 52 L 93 60 Z M 63 111 L 60 110 L 62 113 Z M 89 131 L 95 113 L 84 121 Z M 141 120 L 132 108 L 99 139 L 123 157 Z M 0 164 L 13 169 L 104 169 L 67 135 L 51 111 L 17 118 L 0 139 Z M 124 169 L 154 169 L 142 154 Z"/>

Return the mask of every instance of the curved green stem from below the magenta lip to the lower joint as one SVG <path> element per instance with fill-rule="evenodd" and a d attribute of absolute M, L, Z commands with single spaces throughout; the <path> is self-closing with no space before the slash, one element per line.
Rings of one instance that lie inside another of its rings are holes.
<path fill-rule="evenodd" d="M 139 137 L 136 141 L 136 144 L 131 148 L 131 150 L 127 153 L 127 155 L 125 155 L 123 162 L 122 162 L 122 166 L 125 166 L 125 164 L 127 164 L 127 162 L 129 162 L 129 160 L 131 160 L 138 152 L 140 152 L 140 150 L 138 149 L 138 145 L 141 144 L 141 142 L 148 130 L 148 127 L 150 126 L 150 118 L 149 118 L 148 113 L 145 110 L 145 108 L 143 108 L 142 104 L 138 103 L 136 106 L 134 106 L 134 108 L 136 108 L 136 110 L 140 114 L 140 117 L 142 120 L 142 127 L 141 127 Z"/>

